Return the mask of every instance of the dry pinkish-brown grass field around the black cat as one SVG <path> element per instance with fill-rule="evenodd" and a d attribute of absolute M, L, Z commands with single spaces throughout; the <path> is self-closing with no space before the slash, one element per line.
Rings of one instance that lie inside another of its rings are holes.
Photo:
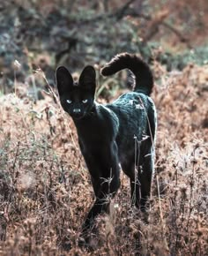
<path fill-rule="evenodd" d="M 0 96 L 0 255 L 208 255 L 208 66 L 153 69 L 159 125 L 149 223 L 130 207 L 122 174 L 112 214 L 97 219 L 93 252 L 78 247 L 93 189 L 71 118 L 52 96 L 34 103 L 21 94 L 24 85 Z"/>

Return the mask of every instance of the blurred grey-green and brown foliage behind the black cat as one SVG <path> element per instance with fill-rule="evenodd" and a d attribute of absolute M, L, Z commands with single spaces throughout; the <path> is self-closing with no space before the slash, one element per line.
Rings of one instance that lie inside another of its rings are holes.
<path fill-rule="evenodd" d="M 207 13 L 207 0 L 1 1 L 0 91 L 11 92 L 14 81 L 33 85 L 31 75 L 40 70 L 54 86 L 57 65 L 99 68 L 123 51 L 167 71 L 207 64 Z"/>

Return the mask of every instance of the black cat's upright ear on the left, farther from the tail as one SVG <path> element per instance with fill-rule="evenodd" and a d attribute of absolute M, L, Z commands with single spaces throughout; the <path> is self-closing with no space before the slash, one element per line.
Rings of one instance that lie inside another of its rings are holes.
<path fill-rule="evenodd" d="M 60 66 L 56 69 L 56 83 L 58 94 L 61 96 L 71 91 L 73 87 L 73 79 L 71 73 L 64 66 Z"/>

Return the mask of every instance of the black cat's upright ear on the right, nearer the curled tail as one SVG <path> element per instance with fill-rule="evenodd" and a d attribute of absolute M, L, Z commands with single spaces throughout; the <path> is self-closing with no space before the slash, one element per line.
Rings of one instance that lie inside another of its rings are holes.
<path fill-rule="evenodd" d="M 85 89 L 91 91 L 94 94 L 96 87 L 96 72 L 93 66 L 85 66 L 78 79 L 78 84 L 80 87 L 85 87 Z"/>

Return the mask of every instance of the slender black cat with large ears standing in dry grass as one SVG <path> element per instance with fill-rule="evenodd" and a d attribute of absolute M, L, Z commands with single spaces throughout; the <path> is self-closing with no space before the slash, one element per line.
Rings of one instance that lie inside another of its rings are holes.
<path fill-rule="evenodd" d="M 149 97 L 153 87 L 152 72 L 138 56 L 123 53 L 115 56 L 101 74 L 109 76 L 123 69 L 129 69 L 135 76 L 133 92 L 107 105 L 94 101 L 96 74 L 93 66 L 85 67 L 78 82 L 65 67 L 56 70 L 60 101 L 76 125 L 78 143 L 96 196 L 83 231 L 93 227 L 95 216 L 108 212 L 109 201 L 120 185 L 120 167 L 130 177 L 132 204 L 145 210 L 151 192 L 157 122 Z"/>

